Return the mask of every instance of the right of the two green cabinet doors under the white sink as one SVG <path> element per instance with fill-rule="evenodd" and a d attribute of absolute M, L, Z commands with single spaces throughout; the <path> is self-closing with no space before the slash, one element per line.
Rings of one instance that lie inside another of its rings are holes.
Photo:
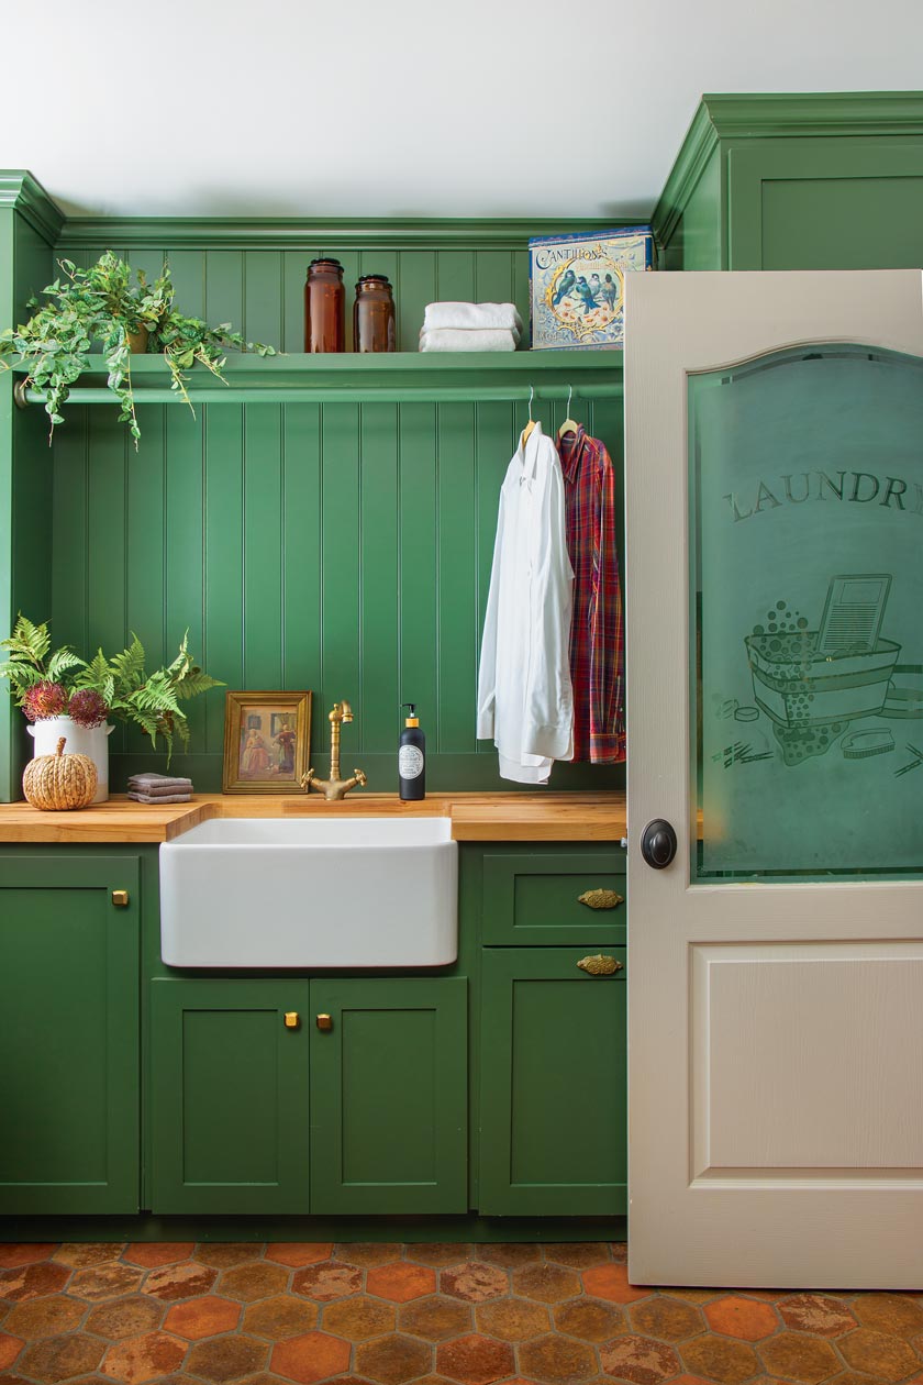
<path fill-rule="evenodd" d="M 311 1212 L 466 1212 L 466 978 L 316 978 L 317 1015 Z"/>

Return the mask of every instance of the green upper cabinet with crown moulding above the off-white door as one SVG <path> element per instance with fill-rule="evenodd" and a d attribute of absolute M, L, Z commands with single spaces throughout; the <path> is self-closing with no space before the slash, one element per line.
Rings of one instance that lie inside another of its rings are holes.
<path fill-rule="evenodd" d="M 706 96 L 653 215 L 666 267 L 923 266 L 923 94 Z"/>

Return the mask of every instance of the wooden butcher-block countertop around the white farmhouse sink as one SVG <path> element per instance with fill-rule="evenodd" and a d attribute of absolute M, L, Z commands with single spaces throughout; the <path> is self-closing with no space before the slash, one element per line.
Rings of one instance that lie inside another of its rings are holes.
<path fill-rule="evenodd" d="M 617 842 L 625 835 L 624 791 L 605 794 L 195 794 L 188 803 L 136 803 L 116 795 L 75 813 L 0 805 L 0 842 L 169 842 L 213 817 L 450 817 L 459 842 Z"/>

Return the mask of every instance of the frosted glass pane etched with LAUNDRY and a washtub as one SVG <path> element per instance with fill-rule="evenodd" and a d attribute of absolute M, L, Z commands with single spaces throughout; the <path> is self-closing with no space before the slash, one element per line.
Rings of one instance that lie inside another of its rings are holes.
<path fill-rule="evenodd" d="M 693 881 L 923 868 L 923 364 L 689 377 Z"/>

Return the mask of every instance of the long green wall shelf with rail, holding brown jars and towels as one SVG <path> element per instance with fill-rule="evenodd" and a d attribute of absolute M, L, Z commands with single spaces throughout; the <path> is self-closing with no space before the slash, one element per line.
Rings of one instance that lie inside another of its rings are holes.
<path fill-rule="evenodd" d="M 599 350 L 519 352 L 394 352 L 358 356 L 250 356 L 230 353 L 227 384 L 195 366 L 187 385 L 199 404 L 284 403 L 476 403 L 621 397 L 623 353 Z M 18 367 L 25 374 L 24 367 Z M 107 371 L 80 377 L 71 404 L 112 403 Z M 159 356 L 131 360 L 137 404 L 183 403 L 170 389 L 170 374 Z M 19 391 L 21 403 L 44 403 L 39 389 Z"/>

